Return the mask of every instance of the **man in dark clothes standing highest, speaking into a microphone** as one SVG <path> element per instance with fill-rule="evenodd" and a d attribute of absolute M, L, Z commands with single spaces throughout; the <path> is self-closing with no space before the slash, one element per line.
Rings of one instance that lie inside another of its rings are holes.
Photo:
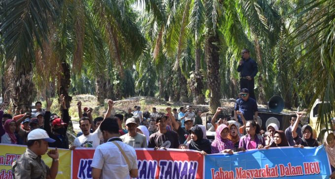
<path fill-rule="evenodd" d="M 250 98 L 256 100 L 254 93 L 254 78 L 257 75 L 258 67 L 256 61 L 250 58 L 250 51 L 248 49 L 242 50 L 242 58 L 239 61 L 237 72 L 240 72 L 240 89 L 247 88 L 249 90 Z"/>

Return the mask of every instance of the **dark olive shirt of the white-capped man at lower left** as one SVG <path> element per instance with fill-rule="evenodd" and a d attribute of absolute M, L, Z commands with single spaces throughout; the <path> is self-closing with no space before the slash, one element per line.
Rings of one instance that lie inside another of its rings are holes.
<path fill-rule="evenodd" d="M 46 179 L 50 175 L 50 168 L 30 149 L 13 163 L 14 179 Z"/>

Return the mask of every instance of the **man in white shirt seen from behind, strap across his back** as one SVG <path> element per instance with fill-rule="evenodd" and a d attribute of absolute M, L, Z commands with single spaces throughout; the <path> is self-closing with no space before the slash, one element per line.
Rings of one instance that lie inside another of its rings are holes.
<path fill-rule="evenodd" d="M 109 100 L 110 101 L 110 100 Z M 108 101 L 108 104 L 109 104 Z M 118 137 L 119 125 L 115 118 L 105 118 L 100 130 L 105 141 L 97 147 L 92 167 L 93 179 L 130 179 L 137 178 L 136 152 Z"/>

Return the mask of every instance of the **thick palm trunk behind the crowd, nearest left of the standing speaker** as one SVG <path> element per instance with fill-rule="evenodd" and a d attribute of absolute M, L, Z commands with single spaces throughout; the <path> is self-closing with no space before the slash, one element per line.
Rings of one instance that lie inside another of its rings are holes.
<path fill-rule="evenodd" d="M 219 75 L 219 67 L 220 67 L 220 56 L 219 56 L 219 47 L 218 44 L 219 36 L 217 33 L 208 34 L 206 38 L 206 46 L 205 46 L 205 59 L 207 62 L 207 85 L 210 91 L 209 97 L 209 110 L 214 113 L 221 105 L 220 103 L 220 75 Z"/>

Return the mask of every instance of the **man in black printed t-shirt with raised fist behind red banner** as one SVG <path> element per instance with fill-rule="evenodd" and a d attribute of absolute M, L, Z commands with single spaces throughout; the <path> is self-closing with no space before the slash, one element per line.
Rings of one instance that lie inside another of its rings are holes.
<path fill-rule="evenodd" d="M 158 113 L 156 118 L 158 132 L 149 137 L 148 148 L 171 148 L 178 149 L 178 135 L 174 131 L 167 131 L 167 116 L 164 113 Z"/>

